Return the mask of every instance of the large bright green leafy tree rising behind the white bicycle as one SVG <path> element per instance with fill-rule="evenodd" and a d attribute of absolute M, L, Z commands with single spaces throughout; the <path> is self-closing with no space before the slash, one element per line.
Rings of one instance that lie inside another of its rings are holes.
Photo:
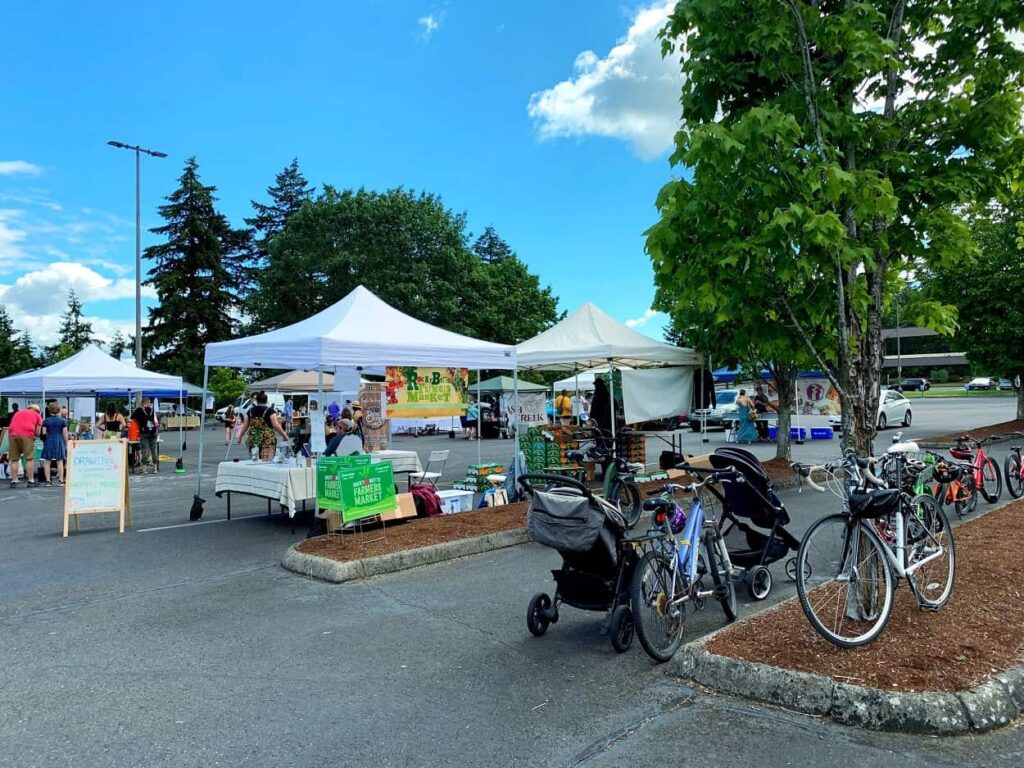
<path fill-rule="evenodd" d="M 1016 0 L 682 0 L 663 32 L 667 52 L 686 51 L 672 157 L 686 176 L 663 188 L 648 234 L 659 287 L 692 280 L 688 249 L 764 285 L 763 322 L 828 372 L 858 452 L 893 287 L 970 256 L 957 210 L 1020 162 L 1024 53 L 1007 33 L 1022 25 Z M 717 291 L 719 322 L 746 290 Z M 919 321 L 952 317 L 932 303 Z"/>

